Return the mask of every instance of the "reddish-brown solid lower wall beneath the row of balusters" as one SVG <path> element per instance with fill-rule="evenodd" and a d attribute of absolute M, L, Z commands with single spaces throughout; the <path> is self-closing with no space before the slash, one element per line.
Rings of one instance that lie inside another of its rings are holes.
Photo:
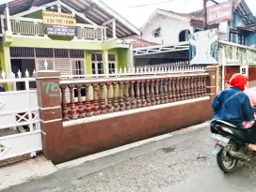
<path fill-rule="evenodd" d="M 53 159 L 53 162 L 69 161 L 200 124 L 211 119 L 210 104 L 210 99 L 207 99 L 165 109 L 63 127 L 61 138 L 52 140 L 51 143 L 54 146 L 61 145 L 61 149 L 56 149 L 58 152 L 61 151 L 61 155 Z M 55 142 L 61 142 L 61 144 Z M 55 152 L 52 151 L 52 153 Z"/>

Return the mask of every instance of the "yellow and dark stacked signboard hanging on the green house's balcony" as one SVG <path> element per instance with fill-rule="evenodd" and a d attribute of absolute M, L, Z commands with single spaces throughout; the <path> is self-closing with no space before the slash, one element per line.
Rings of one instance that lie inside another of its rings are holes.
<path fill-rule="evenodd" d="M 74 14 L 59 12 L 42 12 L 44 30 L 50 36 L 74 37 L 76 19 Z"/>

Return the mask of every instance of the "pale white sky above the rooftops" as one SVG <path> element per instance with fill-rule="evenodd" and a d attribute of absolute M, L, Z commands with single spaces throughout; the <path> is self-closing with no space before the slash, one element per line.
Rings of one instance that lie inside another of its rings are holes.
<path fill-rule="evenodd" d="M 0 0 L 1 1 L 1 0 Z M 152 15 L 156 8 L 187 13 L 202 8 L 202 0 L 103 0 L 109 7 L 120 13 L 129 22 L 139 28 Z M 167 2 L 168 1 L 168 2 Z M 225 0 L 216 0 L 223 2 Z M 135 7 L 153 3 L 166 2 L 152 6 Z M 256 15 L 256 0 L 246 0 L 253 15 Z M 209 3 L 208 6 L 213 5 Z"/>

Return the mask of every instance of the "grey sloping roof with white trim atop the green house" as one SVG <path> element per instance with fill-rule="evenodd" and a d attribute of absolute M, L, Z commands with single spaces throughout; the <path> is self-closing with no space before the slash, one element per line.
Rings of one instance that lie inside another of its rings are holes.
<path fill-rule="evenodd" d="M 1 0 L 0 0 L 1 1 Z M 10 15 L 24 12 L 30 7 L 43 7 L 45 4 L 55 2 L 56 0 L 14 0 L 8 3 Z M 104 22 L 107 22 L 111 19 L 117 19 L 117 37 L 131 37 L 138 36 L 140 32 L 136 27 L 131 23 L 125 20 L 112 8 L 108 7 L 101 0 L 61 0 L 69 7 L 72 7 L 77 12 L 83 13 L 89 20 L 95 22 L 99 25 L 102 25 Z M 56 8 L 56 7 L 55 7 Z M 3 14 L 5 10 L 5 5 L 0 4 L 0 14 Z M 63 12 L 69 13 L 70 11 L 62 7 Z M 82 23 L 87 23 L 81 18 L 78 21 Z M 108 33 L 111 33 L 112 25 L 111 23 L 108 26 Z"/>

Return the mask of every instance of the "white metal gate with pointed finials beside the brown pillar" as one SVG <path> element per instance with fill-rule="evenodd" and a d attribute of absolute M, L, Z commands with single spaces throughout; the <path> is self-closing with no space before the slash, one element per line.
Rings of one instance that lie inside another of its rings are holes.
<path fill-rule="evenodd" d="M 21 72 L 11 76 L 0 75 L 0 86 L 9 83 L 15 90 L 0 92 L 0 160 L 36 155 L 42 149 L 38 94 L 32 84 L 36 80 L 29 78 L 28 71 L 24 77 Z"/>

